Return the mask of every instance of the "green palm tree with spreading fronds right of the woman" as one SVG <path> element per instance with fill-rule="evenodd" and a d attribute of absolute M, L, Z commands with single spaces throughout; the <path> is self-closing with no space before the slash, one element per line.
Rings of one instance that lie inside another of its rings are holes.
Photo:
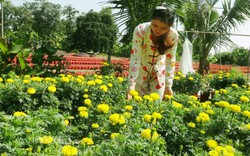
<path fill-rule="evenodd" d="M 229 32 L 250 17 L 250 0 L 223 1 L 222 14 L 215 9 L 219 0 L 192 0 L 177 9 L 179 19 L 186 31 L 203 33 L 188 34 L 193 43 L 194 54 L 199 57 L 200 74 L 206 67 L 208 55 L 212 48 L 230 45 Z M 214 32 L 214 33 L 205 33 Z"/>

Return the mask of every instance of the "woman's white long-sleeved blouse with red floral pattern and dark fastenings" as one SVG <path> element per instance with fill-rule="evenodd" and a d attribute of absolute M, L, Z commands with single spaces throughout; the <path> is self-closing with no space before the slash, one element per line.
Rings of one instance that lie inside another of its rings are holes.
<path fill-rule="evenodd" d="M 165 55 L 159 55 L 157 47 L 154 46 L 151 33 L 151 22 L 138 25 L 133 34 L 132 50 L 130 56 L 130 68 L 128 74 L 129 86 L 133 87 L 138 83 L 153 78 L 158 83 L 156 89 L 162 86 L 171 87 L 175 71 L 175 53 L 178 44 L 178 32 L 170 28 L 168 37 L 174 43 Z"/>

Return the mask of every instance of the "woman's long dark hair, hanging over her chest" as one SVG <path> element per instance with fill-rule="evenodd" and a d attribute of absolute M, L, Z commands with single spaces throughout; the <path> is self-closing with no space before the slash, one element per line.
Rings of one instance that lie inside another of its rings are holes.
<path fill-rule="evenodd" d="M 158 20 L 168 24 L 169 26 L 172 26 L 174 23 L 174 20 L 175 20 L 175 12 L 171 8 L 164 7 L 164 6 L 158 6 L 154 10 L 151 19 L 158 19 Z M 167 49 L 172 48 L 172 46 L 173 46 L 173 45 L 165 45 L 166 38 L 167 38 L 167 33 L 159 36 L 157 44 L 158 44 L 158 51 L 159 51 L 160 55 L 165 54 L 165 51 Z"/>

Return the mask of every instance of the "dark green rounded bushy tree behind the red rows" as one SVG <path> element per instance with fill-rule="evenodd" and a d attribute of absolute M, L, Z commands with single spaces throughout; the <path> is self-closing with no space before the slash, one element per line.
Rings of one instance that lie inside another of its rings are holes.
<path fill-rule="evenodd" d="M 77 17 L 74 34 L 75 48 L 81 51 L 106 52 L 113 48 L 118 28 L 114 24 L 111 11 L 89 11 Z"/>

